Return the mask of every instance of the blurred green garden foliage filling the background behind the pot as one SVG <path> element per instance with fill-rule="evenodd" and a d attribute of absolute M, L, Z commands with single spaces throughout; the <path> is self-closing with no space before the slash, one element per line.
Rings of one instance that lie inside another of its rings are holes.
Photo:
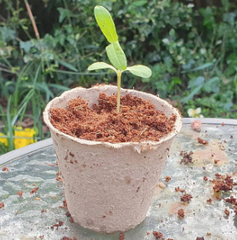
<path fill-rule="evenodd" d="M 26 0 L 25 0 L 26 1 Z M 27 2 L 27 1 L 26 1 Z M 205 3 L 204 3 L 205 2 Z M 23 0 L 0 0 L 0 131 L 14 148 L 13 126 L 34 120 L 38 138 L 42 110 L 62 91 L 115 83 L 112 72 L 89 73 L 108 62 L 106 39 L 93 17 L 97 4 L 111 12 L 128 65 L 148 65 L 153 75 L 124 74 L 122 86 L 171 99 L 187 116 L 237 117 L 237 2 L 235 0 L 35 0 L 35 37 Z"/>

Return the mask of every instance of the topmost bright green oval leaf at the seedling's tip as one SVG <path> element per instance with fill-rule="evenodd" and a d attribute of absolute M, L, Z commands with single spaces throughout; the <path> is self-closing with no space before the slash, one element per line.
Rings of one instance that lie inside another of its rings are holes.
<path fill-rule="evenodd" d="M 95 19 L 102 31 L 107 38 L 108 42 L 114 43 L 118 41 L 118 35 L 116 32 L 114 21 L 109 11 L 102 7 L 96 6 L 94 9 Z"/>

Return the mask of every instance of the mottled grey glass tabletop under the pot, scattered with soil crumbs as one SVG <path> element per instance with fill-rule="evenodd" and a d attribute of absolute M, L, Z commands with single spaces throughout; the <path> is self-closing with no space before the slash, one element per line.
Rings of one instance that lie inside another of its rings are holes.
<path fill-rule="evenodd" d="M 237 186 L 221 193 L 218 200 L 210 181 L 219 173 L 229 174 L 237 182 L 237 120 L 201 119 L 200 133 L 192 130 L 193 120 L 184 119 L 182 131 L 174 140 L 146 220 L 125 232 L 125 240 L 152 240 L 153 231 L 161 232 L 165 239 L 237 239 L 235 208 L 223 200 L 237 197 Z M 208 145 L 198 143 L 198 137 Z M 193 163 L 181 164 L 181 151 L 193 151 Z M 4 167 L 9 171 L 2 171 Z M 63 186 L 57 172 L 51 139 L 0 156 L 0 203 L 4 203 L 0 208 L 0 240 L 59 240 L 64 236 L 119 239 L 119 233 L 98 234 L 70 222 L 67 210 L 62 208 Z M 168 182 L 167 176 L 171 178 Z M 178 187 L 192 195 L 189 204 L 181 202 L 183 193 L 176 191 Z M 208 203 L 208 199 L 212 201 Z M 184 218 L 177 214 L 181 208 Z"/>

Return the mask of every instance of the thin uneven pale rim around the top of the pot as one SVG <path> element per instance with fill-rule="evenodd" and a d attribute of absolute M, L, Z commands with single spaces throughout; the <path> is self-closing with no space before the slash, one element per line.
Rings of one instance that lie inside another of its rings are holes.
<path fill-rule="evenodd" d="M 120 147 L 125 147 L 125 146 L 138 146 L 138 147 L 141 147 L 141 146 L 145 146 L 146 148 L 148 147 L 157 147 L 158 145 L 160 145 L 162 142 L 164 141 L 167 141 L 167 140 L 170 140 L 172 139 L 175 135 L 178 134 L 178 132 L 180 132 L 181 128 L 182 128 L 182 117 L 181 117 L 181 114 L 179 112 L 178 109 L 176 109 L 175 107 L 173 107 L 170 103 L 168 103 L 167 101 L 161 99 L 158 95 L 153 95 L 151 93 L 147 93 L 147 92 L 142 92 L 142 91 L 138 91 L 138 90 L 134 90 L 134 89 L 124 89 L 124 88 L 121 88 L 121 95 L 123 95 L 124 93 L 126 94 L 130 94 L 130 93 L 138 93 L 138 94 L 146 94 L 148 96 L 150 96 L 151 98 L 158 98 L 160 102 L 162 102 L 162 105 L 165 105 L 169 108 L 172 109 L 172 112 L 173 114 L 175 114 L 177 116 L 176 118 L 176 121 L 175 121 L 175 125 L 174 125 L 174 129 L 167 135 L 163 136 L 160 138 L 159 141 L 143 141 L 143 142 L 121 142 L 121 143 L 110 143 L 110 142 L 101 142 L 101 141 L 92 141 L 92 140 L 85 140 L 85 139 L 80 139 L 80 138 L 77 138 L 77 137 L 73 137 L 73 136 L 70 136 L 68 134 L 65 134 L 61 131 L 59 131 L 57 128 L 55 128 L 51 121 L 50 121 L 50 116 L 49 116 L 49 110 L 51 108 L 51 105 L 53 104 L 54 101 L 62 101 L 62 99 L 69 93 L 71 92 L 74 92 L 74 91 L 77 91 L 77 89 L 86 89 L 87 91 L 92 91 L 94 89 L 101 89 L 101 88 L 104 88 L 104 91 L 107 89 L 107 88 L 114 88 L 114 89 L 117 89 L 117 86 L 113 86 L 113 85 L 105 85 L 105 84 L 102 84 L 102 85 L 96 85 L 96 86 L 93 86 L 91 88 L 83 88 L 83 87 L 76 87 L 76 88 L 73 88 L 73 89 L 70 89 L 68 91 L 65 91 L 63 92 L 59 97 L 55 97 L 54 99 L 52 99 L 45 107 L 45 110 L 43 112 L 43 118 L 44 118 L 44 122 L 45 124 L 48 126 L 48 128 L 50 130 L 53 130 L 57 136 L 61 137 L 61 138 L 67 138 L 67 139 L 70 139 L 71 141 L 74 141 L 74 142 L 78 142 L 80 144 L 85 144 L 85 145 L 104 145 L 106 147 L 110 147 L 110 148 L 120 148 Z M 100 92 L 103 92 L 100 90 Z M 142 98 L 142 96 L 140 96 Z"/>

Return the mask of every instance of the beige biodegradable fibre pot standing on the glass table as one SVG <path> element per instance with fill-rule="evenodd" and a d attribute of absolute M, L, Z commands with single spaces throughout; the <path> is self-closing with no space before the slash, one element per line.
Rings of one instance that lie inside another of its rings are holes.
<path fill-rule="evenodd" d="M 97 103 L 100 92 L 111 95 L 116 86 L 75 88 L 53 99 L 44 111 L 51 131 L 59 170 L 62 174 L 68 210 L 75 222 L 98 232 L 126 231 L 141 223 L 148 211 L 154 188 L 165 164 L 174 136 L 182 127 L 177 109 L 164 100 L 135 90 L 121 94 L 149 99 L 168 117 L 177 115 L 175 129 L 159 142 L 107 143 L 74 138 L 50 123 L 51 107 L 66 107 L 81 96 L 89 105 Z"/>

